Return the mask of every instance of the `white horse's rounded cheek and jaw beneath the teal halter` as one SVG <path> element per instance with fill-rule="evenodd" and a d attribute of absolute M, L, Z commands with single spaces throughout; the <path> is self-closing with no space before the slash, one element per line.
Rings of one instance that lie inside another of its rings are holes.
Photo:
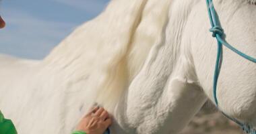
<path fill-rule="evenodd" d="M 246 0 L 214 0 L 214 6 L 227 42 L 245 54 L 255 57 L 255 5 L 249 4 Z M 187 35 L 184 38 L 189 42 L 185 43 L 191 44 L 197 78 L 205 94 L 214 101 L 212 82 L 217 43 L 208 30 L 211 25 L 205 1 L 201 0 L 190 14 L 185 31 Z M 255 64 L 241 58 L 226 47 L 223 48 L 217 92 L 219 107 L 224 113 L 245 122 L 249 122 L 250 118 L 255 119 L 253 115 L 255 105 L 251 101 L 255 101 L 255 96 L 252 94 L 255 94 L 256 75 L 251 72 L 255 72 Z"/>

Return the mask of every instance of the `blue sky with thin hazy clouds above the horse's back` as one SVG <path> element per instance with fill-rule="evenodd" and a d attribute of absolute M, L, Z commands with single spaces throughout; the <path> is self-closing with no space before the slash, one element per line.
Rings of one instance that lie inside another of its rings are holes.
<path fill-rule="evenodd" d="M 1 0 L 0 0 L 1 1 Z M 2 0 L 0 53 L 42 59 L 71 31 L 96 17 L 109 0 Z"/>

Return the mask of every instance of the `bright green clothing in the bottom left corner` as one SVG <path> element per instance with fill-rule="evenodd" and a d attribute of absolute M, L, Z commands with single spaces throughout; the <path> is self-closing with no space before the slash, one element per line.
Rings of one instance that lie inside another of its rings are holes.
<path fill-rule="evenodd" d="M 0 133 L 1 134 L 17 134 L 17 131 L 9 119 L 5 119 L 0 111 Z"/>

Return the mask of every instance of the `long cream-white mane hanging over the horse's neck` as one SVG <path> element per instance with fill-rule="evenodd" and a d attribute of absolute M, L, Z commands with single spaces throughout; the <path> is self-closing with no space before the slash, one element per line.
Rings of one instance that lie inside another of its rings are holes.
<path fill-rule="evenodd" d="M 169 3 L 169 0 L 111 1 L 101 15 L 61 42 L 44 63 L 59 70 L 77 70 L 80 73 L 75 77 L 92 73 L 90 81 L 96 88 L 88 90 L 98 92 L 96 103 L 111 111 L 159 38 Z"/>

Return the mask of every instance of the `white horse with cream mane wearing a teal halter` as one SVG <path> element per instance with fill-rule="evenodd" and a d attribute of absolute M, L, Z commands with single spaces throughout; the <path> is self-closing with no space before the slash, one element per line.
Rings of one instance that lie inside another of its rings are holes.
<path fill-rule="evenodd" d="M 255 0 L 214 0 L 226 40 L 256 56 Z M 115 0 L 42 61 L 0 58 L 0 108 L 21 134 L 70 133 L 95 102 L 111 133 L 179 133 L 207 98 L 216 40 L 205 0 Z M 256 127 L 256 66 L 224 48 L 224 113 Z"/>

